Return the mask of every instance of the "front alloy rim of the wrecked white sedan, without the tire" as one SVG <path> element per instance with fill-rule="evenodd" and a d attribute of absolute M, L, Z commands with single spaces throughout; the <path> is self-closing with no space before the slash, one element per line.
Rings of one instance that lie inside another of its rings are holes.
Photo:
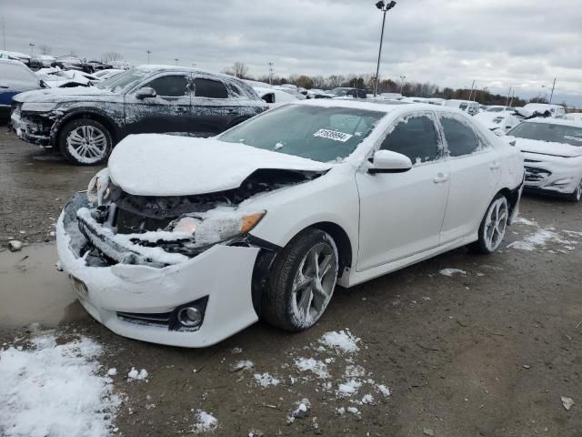
<path fill-rule="evenodd" d="M 319 243 L 299 263 L 293 281 L 292 306 L 297 320 L 310 324 L 326 310 L 336 287 L 336 252 Z"/>

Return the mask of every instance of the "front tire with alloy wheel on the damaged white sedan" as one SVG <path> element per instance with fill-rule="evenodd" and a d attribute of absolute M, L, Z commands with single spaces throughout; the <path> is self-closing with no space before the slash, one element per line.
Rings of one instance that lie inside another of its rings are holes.
<path fill-rule="evenodd" d="M 331 300 L 337 271 L 334 239 L 319 229 L 301 232 L 277 256 L 263 294 L 263 319 L 291 332 L 310 328 Z"/>

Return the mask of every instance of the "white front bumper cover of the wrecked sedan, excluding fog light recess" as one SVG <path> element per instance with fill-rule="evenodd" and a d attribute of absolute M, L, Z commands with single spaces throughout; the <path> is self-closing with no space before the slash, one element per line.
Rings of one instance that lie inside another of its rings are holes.
<path fill-rule="evenodd" d="M 84 284 L 85 290 L 77 294 L 85 310 L 115 333 L 172 346 L 206 347 L 258 319 L 251 295 L 258 248 L 217 244 L 195 258 L 165 268 L 122 263 L 91 267 L 73 248 L 72 241 L 83 237 L 80 232 L 69 235 L 71 229 L 65 229 L 64 217 L 65 212 L 56 226 L 60 266 L 74 283 Z M 196 331 L 136 323 L 119 314 L 171 313 L 206 297 L 204 320 Z"/>

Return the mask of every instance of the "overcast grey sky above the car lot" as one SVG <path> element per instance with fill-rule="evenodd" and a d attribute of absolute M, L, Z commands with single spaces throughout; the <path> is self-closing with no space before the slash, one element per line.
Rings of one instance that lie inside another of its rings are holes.
<path fill-rule="evenodd" d="M 376 71 L 376 0 L 0 0 L 7 50 L 53 55 L 121 53 L 221 71 L 235 61 L 255 76 Z M 386 16 L 380 76 L 439 86 L 487 86 L 582 107 L 580 0 L 397 0 Z"/>

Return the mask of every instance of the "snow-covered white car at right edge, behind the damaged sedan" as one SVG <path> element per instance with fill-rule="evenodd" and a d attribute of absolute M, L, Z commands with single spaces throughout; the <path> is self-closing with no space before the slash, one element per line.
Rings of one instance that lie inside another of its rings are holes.
<path fill-rule="evenodd" d="M 582 198 L 582 122 L 532 118 L 510 130 L 525 158 L 526 188 Z"/>

